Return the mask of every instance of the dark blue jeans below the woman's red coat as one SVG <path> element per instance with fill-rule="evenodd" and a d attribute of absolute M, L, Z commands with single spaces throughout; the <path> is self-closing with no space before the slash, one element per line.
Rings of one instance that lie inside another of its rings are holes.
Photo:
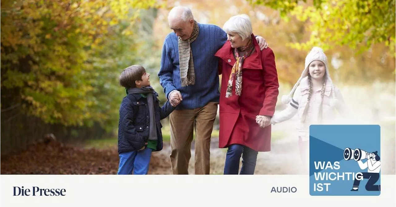
<path fill-rule="evenodd" d="M 247 146 L 231 144 L 228 147 L 227 157 L 225 158 L 224 175 L 238 175 L 241 156 L 242 168 L 240 175 L 253 175 L 258 153 Z"/>

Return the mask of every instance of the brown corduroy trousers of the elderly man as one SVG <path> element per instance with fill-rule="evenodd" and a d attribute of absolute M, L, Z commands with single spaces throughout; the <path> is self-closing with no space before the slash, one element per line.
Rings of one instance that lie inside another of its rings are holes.
<path fill-rule="evenodd" d="M 218 103 L 194 109 L 174 110 L 170 116 L 171 164 L 173 175 L 187 175 L 195 127 L 195 174 L 209 174 L 210 138 Z"/>

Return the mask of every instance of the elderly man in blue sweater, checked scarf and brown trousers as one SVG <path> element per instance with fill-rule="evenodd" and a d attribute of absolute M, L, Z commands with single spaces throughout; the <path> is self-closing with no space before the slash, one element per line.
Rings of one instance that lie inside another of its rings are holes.
<path fill-rule="evenodd" d="M 216 25 L 200 24 L 190 9 L 177 6 L 169 12 L 173 30 L 164 40 L 160 84 L 171 104 L 181 101 L 169 116 L 173 174 L 188 174 L 194 126 L 195 174 L 209 174 L 210 138 L 219 103 L 219 62 L 215 53 L 227 41 Z M 260 48 L 268 47 L 256 37 Z"/>

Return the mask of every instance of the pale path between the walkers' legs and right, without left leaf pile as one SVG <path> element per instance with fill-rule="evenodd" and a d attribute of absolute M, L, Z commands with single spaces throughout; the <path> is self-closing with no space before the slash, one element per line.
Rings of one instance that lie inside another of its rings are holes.
<path fill-rule="evenodd" d="M 255 169 L 256 175 L 299 175 L 306 173 L 301 166 L 297 137 L 295 137 L 297 133 L 295 125 L 296 120 L 291 119 L 288 122 L 272 126 L 272 132 L 281 131 L 284 137 L 272 142 L 270 152 L 259 152 Z M 381 173 L 383 175 L 395 175 L 396 160 L 393 158 L 396 154 L 396 139 L 392 139 L 389 133 L 384 133 L 381 136 L 383 136 L 381 138 L 383 140 L 381 144 L 383 152 Z M 210 174 L 223 174 L 227 149 L 219 149 L 218 141 L 217 138 L 211 139 Z M 194 152 L 194 143 L 192 143 L 189 174 L 194 174 Z M 149 173 L 172 174 L 169 155 L 170 144 L 164 143 L 164 150 L 153 153 L 152 162 L 154 163 Z M 240 167 L 241 165 L 242 162 Z"/>

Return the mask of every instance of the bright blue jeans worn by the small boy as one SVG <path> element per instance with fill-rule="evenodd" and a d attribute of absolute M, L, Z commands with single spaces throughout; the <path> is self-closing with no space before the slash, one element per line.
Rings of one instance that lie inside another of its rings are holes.
<path fill-rule="evenodd" d="M 148 164 L 151 158 L 150 148 L 141 151 L 120 153 L 120 165 L 118 165 L 117 175 L 147 175 Z"/>

